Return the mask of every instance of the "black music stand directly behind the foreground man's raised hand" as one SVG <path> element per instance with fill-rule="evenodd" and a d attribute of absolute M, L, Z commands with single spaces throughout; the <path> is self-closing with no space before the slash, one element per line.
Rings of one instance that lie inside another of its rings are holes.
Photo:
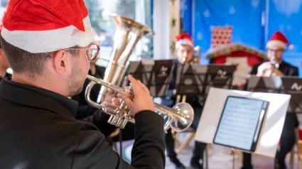
<path fill-rule="evenodd" d="M 131 61 L 124 73 L 122 86 L 129 85 L 128 75 L 141 80 L 148 87 L 151 97 L 165 97 L 171 82 L 173 60 Z"/>

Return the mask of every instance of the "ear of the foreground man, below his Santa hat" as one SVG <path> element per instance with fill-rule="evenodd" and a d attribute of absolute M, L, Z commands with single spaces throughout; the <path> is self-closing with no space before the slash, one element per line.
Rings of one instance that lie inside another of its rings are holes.
<path fill-rule="evenodd" d="M 64 74 L 67 72 L 67 65 L 68 65 L 68 53 L 65 50 L 59 50 L 53 56 L 53 66 L 55 71 Z"/>

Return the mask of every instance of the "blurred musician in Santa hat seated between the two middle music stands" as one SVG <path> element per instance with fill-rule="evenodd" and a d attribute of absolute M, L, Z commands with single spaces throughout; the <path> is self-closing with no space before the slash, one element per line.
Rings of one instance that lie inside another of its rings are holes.
<path fill-rule="evenodd" d="M 193 41 L 188 33 L 183 33 L 176 36 L 176 55 L 177 60 L 174 60 L 173 77 L 171 78 L 171 84 L 169 87 L 168 97 L 162 99 L 162 104 L 172 107 L 176 104 L 176 70 L 179 64 L 185 64 L 193 60 L 194 49 L 193 49 Z M 192 127 L 197 129 L 198 122 L 200 121 L 200 116 L 203 111 L 203 107 L 198 102 L 198 97 L 186 97 L 186 102 L 188 102 L 194 109 L 194 121 Z M 185 168 L 185 166 L 180 163 L 177 158 L 177 154 L 174 151 L 174 138 L 171 133 L 171 129 L 166 133 L 165 136 L 166 141 L 166 150 L 168 153 L 168 157 L 171 162 L 176 165 L 176 168 Z M 190 164 L 193 168 L 202 168 L 200 165 L 200 159 L 203 160 L 203 151 L 205 149 L 206 144 L 195 141 L 195 148 L 193 150 L 193 157 L 191 158 Z"/>

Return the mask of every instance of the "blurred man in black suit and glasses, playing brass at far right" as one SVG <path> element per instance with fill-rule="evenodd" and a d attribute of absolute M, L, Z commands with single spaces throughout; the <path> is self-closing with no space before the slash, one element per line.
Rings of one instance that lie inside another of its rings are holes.
<path fill-rule="evenodd" d="M 283 53 L 286 49 L 286 44 L 289 45 L 286 36 L 281 32 L 276 32 L 266 44 L 267 57 L 269 60 L 265 60 L 260 64 L 254 65 L 251 75 L 257 75 L 259 77 L 265 76 L 298 76 L 298 67 L 294 67 L 288 62 L 282 59 Z M 296 143 L 295 129 L 298 127 L 298 119 L 296 114 L 288 112 L 284 122 L 284 128 L 281 133 L 281 145 L 280 150 L 276 155 L 278 160 L 279 169 L 285 169 L 285 157 L 288 152 L 291 151 Z M 252 167 L 252 156 L 250 153 L 243 153 L 243 166 L 242 169 L 250 169 Z"/>

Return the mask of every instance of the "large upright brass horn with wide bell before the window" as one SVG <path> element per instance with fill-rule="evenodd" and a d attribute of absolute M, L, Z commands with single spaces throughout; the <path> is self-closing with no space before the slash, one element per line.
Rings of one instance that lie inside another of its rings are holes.
<path fill-rule="evenodd" d="M 116 13 L 113 13 L 110 18 L 117 27 L 114 32 L 112 53 L 104 72 L 104 80 L 118 85 L 122 81 L 126 62 L 129 60 L 136 43 L 145 35 L 153 35 L 153 31 L 148 26 L 144 26 L 129 18 L 118 16 Z M 107 87 L 102 86 L 97 102 L 101 102 L 105 94 L 107 94 Z"/>

